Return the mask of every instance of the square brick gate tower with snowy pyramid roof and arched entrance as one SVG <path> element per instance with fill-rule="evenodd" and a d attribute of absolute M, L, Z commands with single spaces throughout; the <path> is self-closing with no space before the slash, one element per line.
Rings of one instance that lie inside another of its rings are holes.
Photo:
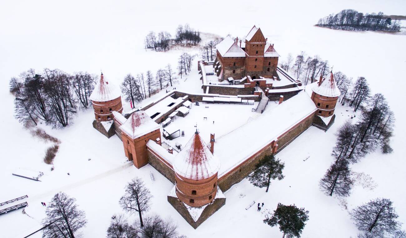
<path fill-rule="evenodd" d="M 160 126 L 144 111 L 136 111 L 120 127 L 125 157 L 141 168 L 148 164 L 148 140 L 161 140 Z"/>

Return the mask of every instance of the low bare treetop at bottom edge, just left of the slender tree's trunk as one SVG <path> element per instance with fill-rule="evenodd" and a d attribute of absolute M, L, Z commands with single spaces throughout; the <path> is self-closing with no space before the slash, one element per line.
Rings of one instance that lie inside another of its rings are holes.
<path fill-rule="evenodd" d="M 107 229 L 108 238 L 138 238 L 136 227 L 130 225 L 124 215 L 114 215 Z"/>

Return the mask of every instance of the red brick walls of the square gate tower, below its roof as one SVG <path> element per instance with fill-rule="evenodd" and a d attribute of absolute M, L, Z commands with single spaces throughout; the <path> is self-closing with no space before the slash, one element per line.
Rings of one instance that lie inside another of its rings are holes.
<path fill-rule="evenodd" d="M 148 154 L 147 154 L 147 141 L 148 140 L 156 140 L 156 138 L 161 139 L 160 130 L 154 130 L 153 132 L 149 132 L 139 138 L 133 140 L 125 134 L 124 132 L 121 134 L 121 139 L 123 140 L 124 152 L 125 157 L 128 159 L 133 160 L 134 166 L 137 168 L 141 168 L 148 164 Z"/>

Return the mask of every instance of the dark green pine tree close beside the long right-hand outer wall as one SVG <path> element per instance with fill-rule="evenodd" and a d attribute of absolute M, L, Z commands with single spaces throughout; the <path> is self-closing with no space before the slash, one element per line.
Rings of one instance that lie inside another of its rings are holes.
<path fill-rule="evenodd" d="M 263 159 L 255 167 L 255 171 L 248 175 L 248 180 L 256 187 L 266 187 L 268 192 L 271 179 L 281 180 L 285 176 L 282 174 L 282 170 L 285 168 L 285 163 L 276 159 L 274 155 L 265 155 Z"/>

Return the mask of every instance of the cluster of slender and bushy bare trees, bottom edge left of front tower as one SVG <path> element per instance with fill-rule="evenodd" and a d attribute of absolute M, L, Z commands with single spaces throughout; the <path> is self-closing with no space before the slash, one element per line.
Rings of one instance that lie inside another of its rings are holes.
<path fill-rule="evenodd" d="M 130 224 L 124 215 L 113 216 L 107 229 L 108 238 L 175 238 L 177 225 L 171 220 L 163 220 L 158 215 L 143 217 L 150 209 L 152 195 L 140 178 L 134 178 L 125 186 L 125 193 L 119 204 L 130 214 L 137 214 L 139 220 Z"/>

